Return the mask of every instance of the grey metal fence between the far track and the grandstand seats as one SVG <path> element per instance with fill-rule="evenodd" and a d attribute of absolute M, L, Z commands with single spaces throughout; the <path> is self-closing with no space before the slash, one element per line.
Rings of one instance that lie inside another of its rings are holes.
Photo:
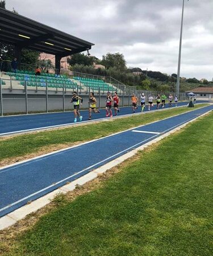
<path fill-rule="evenodd" d="M 2 84 L 2 81 L 7 81 L 6 85 L 3 85 Z M 14 93 L 14 96 L 15 95 L 21 95 L 22 97 L 19 98 L 19 100 L 22 100 L 22 102 L 25 102 L 24 105 L 24 113 L 28 114 L 29 113 L 29 101 L 32 102 L 32 96 L 34 96 L 34 99 L 35 100 L 42 100 L 42 102 L 44 103 L 45 102 L 45 106 L 43 108 L 43 110 L 40 110 L 40 112 L 46 112 L 48 113 L 49 111 L 52 111 L 52 110 L 55 110 L 56 108 L 53 108 L 53 105 L 56 103 L 55 101 L 57 100 L 59 103 L 60 103 L 60 111 L 62 110 L 62 112 L 65 112 L 66 109 L 69 109 L 70 110 L 70 106 L 69 108 L 66 108 L 66 106 L 68 106 L 68 102 L 69 102 L 69 98 L 72 97 L 72 93 L 74 92 L 74 90 L 77 91 L 77 93 L 82 97 L 84 98 L 84 106 L 83 108 L 87 108 L 87 99 L 89 97 L 89 94 L 90 92 L 94 92 L 95 93 L 95 97 L 97 98 L 98 100 L 98 106 L 99 108 L 102 108 L 102 107 L 105 107 L 105 104 L 106 104 L 106 93 L 107 93 L 107 90 L 105 90 L 103 92 L 102 88 L 99 87 L 98 90 L 94 90 L 93 88 L 88 88 L 87 87 L 87 90 L 83 90 L 82 89 L 82 86 L 80 86 L 79 84 L 76 85 L 76 87 L 73 87 L 72 89 L 70 88 L 67 88 L 65 82 L 63 82 L 63 84 L 59 87 L 57 86 L 56 88 L 52 88 L 52 87 L 49 87 L 48 86 L 48 82 L 45 83 L 45 86 L 43 87 L 40 87 L 40 86 L 28 86 L 28 82 L 27 81 L 24 81 L 24 85 L 18 85 L 18 88 L 17 86 L 15 86 L 13 84 L 13 81 L 16 81 L 16 80 L 6 80 L 6 79 L 1 79 L 0 78 L 0 106 L 1 106 L 1 116 L 3 114 L 6 114 L 6 113 L 20 113 L 21 111 L 18 111 L 15 106 L 17 106 L 15 103 L 13 105 L 13 107 L 11 108 L 14 108 L 12 112 L 8 112 L 8 110 L 6 110 L 6 108 L 8 108 L 8 106 L 12 105 L 12 102 L 15 101 L 15 99 L 17 99 L 16 97 L 12 97 L 10 99 L 8 99 L 7 97 L 3 97 L 3 95 L 5 94 L 10 94 L 11 93 Z M 122 87 L 123 86 L 123 87 Z M 9 91 L 8 91 L 9 89 Z M 19 89 L 19 92 L 17 91 Z M 20 93 L 20 90 L 22 90 L 22 92 Z M 142 93 L 145 94 L 146 98 L 147 98 L 147 101 L 148 101 L 148 97 L 149 95 L 152 95 L 152 97 L 156 97 L 158 92 L 153 92 L 153 91 L 144 91 L 144 90 L 135 90 L 135 89 L 131 89 L 131 87 L 129 86 L 129 88 L 126 88 L 124 85 L 120 85 L 120 88 L 119 90 L 115 89 L 116 92 L 118 92 L 118 95 L 120 97 L 120 106 L 130 106 L 131 105 L 131 96 L 132 96 L 132 93 L 135 93 L 138 100 L 139 100 L 139 103 L 140 103 L 140 96 Z M 115 92 L 114 90 L 114 92 Z M 165 93 L 165 95 L 169 96 L 170 92 L 167 92 Z M 172 93 L 173 96 L 175 95 L 174 93 Z M 35 97 L 35 95 L 37 95 L 38 97 Z M 41 96 L 43 98 L 41 98 Z M 29 98 L 30 97 L 30 98 Z M 186 94 L 185 93 L 179 93 L 178 94 L 178 97 L 179 97 L 179 100 L 186 100 Z M 10 100 L 10 104 L 6 104 L 4 105 L 3 102 L 8 102 L 8 100 Z M 52 108 L 49 106 L 49 100 L 51 100 L 51 106 Z M 65 103 L 66 103 L 66 106 L 65 106 Z M 31 103 L 32 104 L 32 103 Z M 34 104 L 36 105 L 36 104 Z M 56 104 L 57 105 L 57 104 Z M 58 106 L 58 105 L 57 105 Z M 30 105 L 31 109 L 32 109 L 32 105 Z M 11 109 L 10 108 L 10 109 Z M 39 110 L 37 109 L 34 109 L 34 111 L 36 112 L 39 112 Z M 32 112 L 32 110 L 31 110 Z M 23 113 L 23 111 L 22 111 Z"/>

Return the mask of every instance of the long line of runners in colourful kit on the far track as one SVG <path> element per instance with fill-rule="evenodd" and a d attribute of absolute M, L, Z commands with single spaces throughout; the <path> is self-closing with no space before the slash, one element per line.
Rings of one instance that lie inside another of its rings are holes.
<path fill-rule="evenodd" d="M 135 93 L 132 94 L 131 100 L 132 100 L 132 112 L 135 113 L 135 110 L 138 109 L 137 104 L 139 102 L 139 99 L 136 97 Z M 157 103 L 157 109 L 160 108 L 160 105 L 161 105 L 161 108 L 165 108 L 166 96 L 164 93 L 162 93 L 161 95 L 157 94 L 157 97 L 155 98 L 155 100 Z M 172 102 L 173 102 L 172 94 L 169 94 L 168 100 L 169 100 L 169 107 L 172 107 Z M 151 94 L 149 94 L 149 97 L 148 97 L 148 109 L 149 110 L 151 110 L 154 106 L 153 101 L 154 101 L 154 98 L 152 97 Z M 77 95 L 77 92 L 73 92 L 73 97 L 70 102 L 72 102 L 74 105 L 74 122 L 77 122 L 77 117 L 79 117 L 79 121 L 82 121 L 82 115 L 80 114 L 80 105 L 82 105 L 83 99 Z M 145 94 L 142 93 L 140 96 L 141 112 L 144 111 L 145 102 L 146 102 L 146 97 L 145 97 Z M 177 102 L 178 102 L 177 95 L 174 97 L 174 102 L 177 107 Z M 118 115 L 118 113 L 120 112 L 119 103 L 120 103 L 120 98 L 116 92 L 114 93 L 114 96 L 112 96 L 110 92 L 107 92 L 106 107 L 105 107 L 106 117 L 109 117 L 109 116 L 112 117 L 112 105 L 114 108 L 115 115 Z M 88 119 L 91 120 L 92 113 L 100 113 L 99 109 L 97 109 L 97 106 L 96 106 L 97 100 L 94 97 L 94 93 L 92 93 L 92 92 L 90 93 L 88 104 L 89 104 Z"/>

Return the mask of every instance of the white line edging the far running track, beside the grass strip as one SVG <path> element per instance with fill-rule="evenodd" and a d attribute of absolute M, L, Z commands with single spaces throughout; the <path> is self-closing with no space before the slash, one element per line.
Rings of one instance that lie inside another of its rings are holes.
<path fill-rule="evenodd" d="M 198 104 L 202 104 L 202 103 L 198 103 Z M 178 106 L 178 108 L 182 108 L 184 107 L 185 105 L 182 105 L 182 106 Z M 126 108 L 126 107 L 125 107 Z M 174 108 L 174 107 L 173 107 Z M 205 107 L 202 107 L 202 108 L 205 108 Z M 200 108 L 200 109 L 202 109 Z M 168 109 L 171 109 L 171 108 L 165 108 L 165 109 L 158 109 L 158 110 L 168 110 Z M 197 109 L 195 109 L 197 110 Z M 84 110 L 83 110 L 84 111 Z M 86 111 L 86 110 L 85 110 Z M 88 110 L 87 110 L 88 111 Z M 155 112 L 157 111 L 156 109 L 153 109 L 151 110 L 151 112 Z M 194 111 L 194 110 L 191 110 L 191 111 Z M 56 113 L 59 113 L 59 112 L 56 112 Z M 147 113 L 150 113 L 150 112 L 143 112 L 144 114 L 147 114 Z M 47 113 L 43 113 L 43 114 L 47 114 Z M 122 118 L 122 117 L 128 117 L 128 116 L 133 116 L 133 115 L 139 115 L 139 114 L 142 114 L 141 112 L 139 113 L 131 113 L 131 114 L 125 114 L 125 115 L 117 115 L 117 116 L 114 116 L 112 118 Z M 32 129 L 26 129 L 26 130 L 18 130 L 18 131 L 11 131 L 9 133 L 1 133 L 0 134 L 0 137 L 1 136 L 4 136 L 4 135 L 12 135 L 12 134 L 19 134 L 19 133 L 26 133 L 27 131 L 37 131 L 37 130 L 45 130 L 45 129 L 51 129 L 51 128 L 56 128 L 56 127 L 63 127 L 63 126 L 74 126 L 74 125 L 78 125 L 79 123 L 87 123 L 87 122 L 96 122 L 96 121 L 108 121 L 112 118 L 107 118 L 107 117 L 103 117 L 103 118 L 98 118 L 98 119 L 93 119 L 92 121 L 91 120 L 87 120 L 87 121 L 81 121 L 81 122 L 76 122 L 76 123 L 63 123 L 61 125 L 52 125 L 52 126 L 43 126 L 43 127 L 37 127 L 37 128 L 32 128 Z"/>

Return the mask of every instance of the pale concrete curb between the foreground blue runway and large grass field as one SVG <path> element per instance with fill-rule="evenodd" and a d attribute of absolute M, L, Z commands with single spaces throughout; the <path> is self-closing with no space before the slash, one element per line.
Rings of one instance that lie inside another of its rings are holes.
<path fill-rule="evenodd" d="M 203 117 L 204 115 L 207 115 L 212 110 L 199 115 L 199 117 L 194 118 L 193 120 L 184 123 L 181 126 L 178 126 L 177 128 L 168 131 L 165 134 L 162 134 L 160 137 L 157 137 L 153 139 L 150 142 L 145 143 L 143 146 L 137 147 L 136 149 L 120 156 L 119 158 L 116 158 L 115 160 L 112 160 L 111 162 L 89 172 L 86 175 L 83 175 L 82 177 L 70 182 L 69 184 L 66 184 L 62 186 L 61 188 L 56 189 L 55 191 L 52 191 L 51 193 L 48 193 L 47 195 L 40 197 L 39 199 L 32 201 L 32 203 L 24 205 L 23 207 L 20 207 L 19 209 L 14 210 L 14 212 L 11 212 L 7 214 L 6 216 L 3 216 L 0 218 L 0 230 L 9 228 L 10 226 L 14 225 L 17 221 L 22 220 L 25 218 L 28 214 L 36 212 L 36 210 L 39 210 L 43 208 L 45 205 L 51 203 L 51 201 L 54 199 L 56 195 L 59 195 L 59 193 L 67 193 L 69 191 L 73 191 L 76 188 L 76 185 L 83 185 L 87 183 L 88 181 L 91 181 L 95 179 L 99 174 L 103 174 L 107 170 L 110 170 L 112 167 L 117 166 L 118 164 L 124 162 L 124 160 L 127 160 L 128 158 L 131 158 L 132 156 L 136 155 L 139 150 L 144 150 L 144 148 L 147 148 L 148 146 L 151 146 L 152 144 L 161 141 L 161 139 L 164 139 L 168 137 L 170 134 L 176 133 L 176 131 L 181 130 L 183 127 L 188 125 L 191 122 L 195 122 L 198 118 Z"/>

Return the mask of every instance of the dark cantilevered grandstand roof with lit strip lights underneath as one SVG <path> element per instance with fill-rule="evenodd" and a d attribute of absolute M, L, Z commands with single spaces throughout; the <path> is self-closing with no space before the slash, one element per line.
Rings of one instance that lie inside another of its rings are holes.
<path fill-rule="evenodd" d="M 3 8 L 0 8 L 0 41 L 61 57 L 86 51 L 94 46 L 93 43 Z"/>

